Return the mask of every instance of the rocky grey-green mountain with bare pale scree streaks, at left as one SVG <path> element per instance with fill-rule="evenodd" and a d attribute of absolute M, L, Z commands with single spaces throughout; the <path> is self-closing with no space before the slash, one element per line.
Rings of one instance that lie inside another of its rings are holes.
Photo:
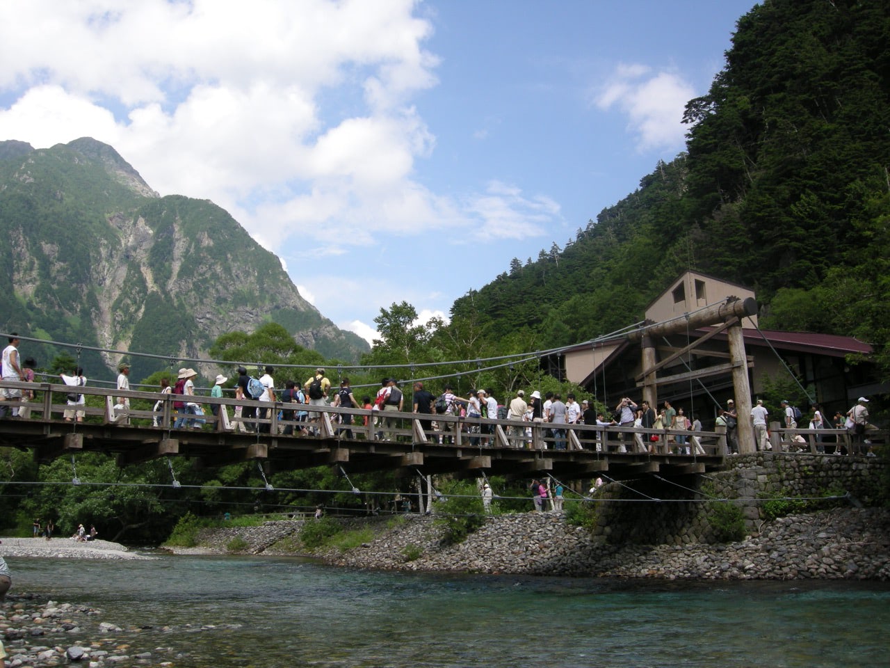
<path fill-rule="evenodd" d="M 303 299 L 278 257 L 226 211 L 159 197 L 90 138 L 40 151 L 0 143 L 0 259 L 7 331 L 178 358 L 272 321 L 326 356 L 354 360 L 368 349 Z M 137 378 L 166 366 L 133 363 Z"/>

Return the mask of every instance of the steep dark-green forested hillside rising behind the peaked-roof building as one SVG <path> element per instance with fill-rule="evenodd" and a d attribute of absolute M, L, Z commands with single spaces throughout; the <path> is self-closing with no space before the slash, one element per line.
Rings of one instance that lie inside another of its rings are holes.
<path fill-rule="evenodd" d="M 687 150 L 564 248 L 457 299 L 441 341 L 569 345 L 643 317 L 686 269 L 756 290 L 768 328 L 890 332 L 890 4 L 767 0 L 688 102 Z M 495 352 L 492 350 L 491 352 Z"/>

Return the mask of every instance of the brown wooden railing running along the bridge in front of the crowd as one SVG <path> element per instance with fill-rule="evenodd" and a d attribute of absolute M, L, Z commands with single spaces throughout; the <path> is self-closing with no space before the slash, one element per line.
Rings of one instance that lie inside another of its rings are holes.
<path fill-rule="evenodd" d="M 197 395 L 160 394 L 158 392 L 118 391 L 105 387 L 70 387 L 55 383 L 23 383 L 3 381 L 0 387 L 15 387 L 35 394 L 35 398 L 18 403 L 30 418 L 60 420 L 63 411 L 85 411 L 87 421 L 106 425 L 153 427 L 171 432 L 198 427 L 216 432 L 259 431 L 277 437 L 320 437 L 341 440 L 392 440 L 411 444 L 448 443 L 471 448 L 520 448 L 530 450 L 578 450 L 612 454 L 651 454 L 658 456 L 686 455 L 723 458 L 726 450 L 725 428 L 693 432 L 684 429 L 651 429 L 597 427 L 591 425 L 554 425 L 553 423 L 520 420 L 466 419 L 451 415 L 422 415 L 399 411 L 367 411 L 364 409 L 310 406 L 300 403 L 259 402 L 229 397 L 214 398 Z M 66 395 L 77 391 L 86 397 L 98 397 L 92 405 L 70 405 Z M 130 407 L 116 409 L 115 400 L 124 397 Z M 203 415 L 178 411 L 174 402 L 193 402 L 204 407 Z M 153 407 L 159 402 L 159 410 Z M 98 405 L 96 405 L 98 404 Z M 4 405 L 0 403 L 0 405 Z M 5 403 L 11 407 L 11 403 Z M 142 406 L 142 407 L 141 407 Z M 214 416 L 209 407 L 219 410 Z M 265 411 L 265 417 L 238 418 L 238 407 Z M 293 411 L 288 418 L 287 412 Z M 177 420 L 182 422 L 177 425 Z M 347 420 L 351 423 L 347 423 Z M 564 436 L 554 434 L 554 428 Z M 799 435 L 804 443 L 794 436 Z M 771 430 L 773 452 L 833 452 L 835 443 L 821 443 L 819 436 L 835 438 L 847 453 L 863 453 L 845 429 L 781 429 L 775 423 Z M 886 443 L 886 431 L 870 431 L 870 440 Z M 855 452 L 854 452 L 855 451 Z M 829 452 L 829 453 L 830 453 Z"/>

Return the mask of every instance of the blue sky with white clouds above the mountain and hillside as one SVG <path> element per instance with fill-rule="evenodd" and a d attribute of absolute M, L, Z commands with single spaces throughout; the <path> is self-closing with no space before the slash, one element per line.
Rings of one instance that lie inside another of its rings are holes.
<path fill-rule="evenodd" d="M 750 0 L 9 0 L 0 139 L 111 144 L 373 338 L 635 190 Z"/>

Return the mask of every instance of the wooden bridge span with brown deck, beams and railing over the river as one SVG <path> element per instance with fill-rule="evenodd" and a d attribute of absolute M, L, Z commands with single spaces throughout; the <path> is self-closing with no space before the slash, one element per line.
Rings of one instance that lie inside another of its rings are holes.
<path fill-rule="evenodd" d="M 469 420 L 101 387 L 78 387 L 82 394 L 99 401 L 77 406 L 85 411 L 85 421 L 74 422 L 62 419 L 63 411 L 72 408 L 65 399 L 68 386 L 4 382 L 0 387 L 34 392 L 35 399 L 18 404 L 27 417 L 0 420 L 0 445 L 30 449 L 40 462 L 77 452 L 104 452 L 114 455 L 120 466 L 184 456 L 210 467 L 259 460 L 270 472 L 338 465 L 351 473 L 403 469 L 406 475 L 419 471 L 475 477 L 484 471 L 511 477 L 550 473 L 573 479 L 599 472 L 621 478 L 646 473 L 704 473 L 721 468 L 726 451 L 725 436 L 718 432 L 563 425 L 564 449 L 557 449 L 562 443 L 551 432 L 555 425 L 539 422 Z M 116 410 L 117 397 L 126 397 L 134 406 L 160 401 L 160 410 Z M 195 400 L 204 407 L 205 415 L 174 409 L 175 401 Z M 236 420 L 239 406 L 242 410 L 264 409 L 269 417 Z M 217 410 L 208 410 L 213 407 Z M 285 411 L 307 414 L 300 419 Z M 183 422 L 177 428 L 178 418 Z M 391 440 L 380 438 L 384 431 Z M 657 440 L 653 441 L 653 436 Z M 688 444 L 672 443 L 677 436 L 685 437 Z"/>

